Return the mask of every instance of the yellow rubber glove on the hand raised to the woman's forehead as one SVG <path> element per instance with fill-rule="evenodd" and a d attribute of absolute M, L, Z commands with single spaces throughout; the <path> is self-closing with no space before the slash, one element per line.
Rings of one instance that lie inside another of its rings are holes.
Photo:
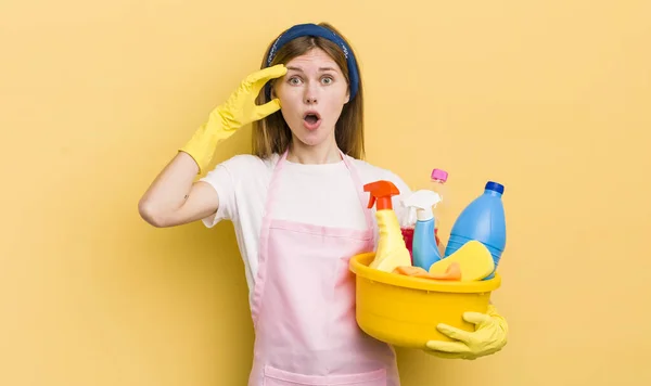
<path fill-rule="evenodd" d="M 278 64 L 248 75 L 240 87 L 221 105 L 215 107 L 190 141 L 179 151 L 188 153 L 199 165 L 199 173 L 208 166 L 217 144 L 235 130 L 254 120 L 261 119 L 280 110 L 280 100 L 273 99 L 257 105 L 255 99 L 270 79 L 285 75 L 288 69 Z"/>

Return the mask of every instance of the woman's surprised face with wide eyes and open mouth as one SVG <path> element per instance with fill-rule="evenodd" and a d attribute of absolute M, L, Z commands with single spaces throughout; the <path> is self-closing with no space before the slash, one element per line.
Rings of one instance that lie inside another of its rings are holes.
<path fill-rule="evenodd" d="M 334 140 L 334 127 L 348 102 L 342 69 L 324 51 L 314 49 L 285 64 L 288 73 L 276 82 L 284 120 L 294 140 L 316 146 Z"/>

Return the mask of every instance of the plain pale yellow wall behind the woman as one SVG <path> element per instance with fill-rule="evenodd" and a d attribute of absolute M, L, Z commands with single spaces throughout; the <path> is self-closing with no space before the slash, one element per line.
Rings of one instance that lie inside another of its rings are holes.
<path fill-rule="evenodd" d="M 154 229 L 137 203 L 276 34 L 319 21 L 359 55 L 368 159 L 450 171 L 444 239 L 506 185 L 509 345 L 400 350 L 404 385 L 651 384 L 651 3 L 347 1 L 0 3 L 0 385 L 245 384 L 231 224 Z"/>

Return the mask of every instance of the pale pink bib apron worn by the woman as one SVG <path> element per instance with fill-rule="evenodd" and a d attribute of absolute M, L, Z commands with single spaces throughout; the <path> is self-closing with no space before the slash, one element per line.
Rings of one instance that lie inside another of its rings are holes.
<path fill-rule="evenodd" d="M 366 214 L 366 230 L 273 219 L 286 155 L 273 170 L 263 219 L 248 386 L 399 386 L 393 348 L 366 335 L 355 320 L 348 260 L 374 246 L 359 176 L 342 154 Z"/>

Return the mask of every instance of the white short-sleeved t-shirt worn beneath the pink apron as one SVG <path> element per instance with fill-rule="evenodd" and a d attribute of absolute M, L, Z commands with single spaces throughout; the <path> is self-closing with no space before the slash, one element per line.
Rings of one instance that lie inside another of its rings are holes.
<path fill-rule="evenodd" d="M 356 168 L 362 184 L 388 180 L 400 191 L 393 197 L 393 208 L 399 220 L 406 216 L 400 204 L 410 193 L 395 173 L 346 156 Z M 212 228 L 221 220 L 231 220 L 238 246 L 244 260 L 250 299 L 258 270 L 258 245 L 267 191 L 278 154 L 268 159 L 254 155 L 237 155 L 220 163 L 201 181 L 209 183 L 219 196 L 219 209 L 203 223 Z M 305 165 L 286 160 L 280 173 L 273 218 L 323 227 L 366 229 L 366 217 L 352 176 L 343 160 L 333 164 Z M 368 198 L 366 195 L 365 201 Z M 363 203 L 365 207 L 368 201 Z M 375 243 L 378 224 L 372 209 Z"/>

